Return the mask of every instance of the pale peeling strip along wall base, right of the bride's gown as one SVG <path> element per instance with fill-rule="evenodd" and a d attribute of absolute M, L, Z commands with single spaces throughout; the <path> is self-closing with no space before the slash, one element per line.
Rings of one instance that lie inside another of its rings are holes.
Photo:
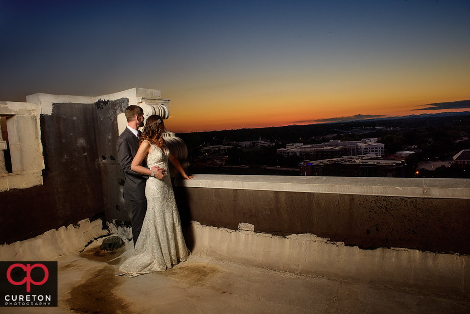
<path fill-rule="evenodd" d="M 401 248 L 364 250 L 312 234 L 286 237 L 193 222 L 192 254 L 357 283 L 470 296 L 470 257 Z"/>

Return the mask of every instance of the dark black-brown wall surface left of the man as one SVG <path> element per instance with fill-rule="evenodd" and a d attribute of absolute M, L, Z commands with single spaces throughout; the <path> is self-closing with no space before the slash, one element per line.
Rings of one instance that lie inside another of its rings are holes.
<path fill-rule="evenodd" d="M 57 103 L 51 115 L 41 115 L 44 184 L 0 192 L 0 243 L 114 214 L 124 178 L 116 160 L 117 115 L 127 105 L 127 99 L 105 106 Z"/>

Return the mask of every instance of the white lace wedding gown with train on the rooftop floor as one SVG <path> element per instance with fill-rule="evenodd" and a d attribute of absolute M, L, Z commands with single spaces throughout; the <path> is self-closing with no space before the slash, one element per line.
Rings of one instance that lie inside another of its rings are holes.
<path fill-rule="evenodd" d="M 147 166 L 158 166 L 167 170 L 162 180 L 149 176 L 145 187 L 147 213 L 143 220 L 141 234 L 135 253 L 119 270 L 126 273 L 147 273 L 164 271 L 188 258 L 188 249 L 181 230 L 180 215 L 168 171 L 168 147 L 163 151 L 150 144 L 152 151 L 147 155 Z"/>

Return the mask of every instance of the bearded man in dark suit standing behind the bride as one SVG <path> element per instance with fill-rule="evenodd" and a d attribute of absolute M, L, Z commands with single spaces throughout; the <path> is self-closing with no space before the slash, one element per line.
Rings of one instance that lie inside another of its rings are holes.
<path fill-rule="evenodd" d="M 139 106 L 130 105 L 125 111 L 127 127 L 118 137 L 116 148 L 118 149 L 118 160 L 126 177 L 124 182 L 124 199 L 131 201 L 132 207 L 132 237 L 134 247 L 141 233 L 143 218 L 147 212 L 147 199 L 145 198 L 145 184 L 148 175 L 140 174 L 131 170 L 132 160 L 139 149 L 139 138 L 141 132 L 138 131 L 143 126 L 143 110 Z M 145 160 L 142 167 L 147 167 Z M 165 169 L 153 166 L 150 168 L 156 171 L 155 177 L 162 179 L 165 176 Z"/>

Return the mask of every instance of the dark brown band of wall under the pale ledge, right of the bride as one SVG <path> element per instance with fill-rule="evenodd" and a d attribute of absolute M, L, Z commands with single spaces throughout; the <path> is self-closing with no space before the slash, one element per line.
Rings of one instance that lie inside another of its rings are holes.
<path fill-rule="evenodd" d="M 277 235 L 311 233 L 364 248 L 470 254 L 470 200 L 178 188 L 183 217 Z"/>

